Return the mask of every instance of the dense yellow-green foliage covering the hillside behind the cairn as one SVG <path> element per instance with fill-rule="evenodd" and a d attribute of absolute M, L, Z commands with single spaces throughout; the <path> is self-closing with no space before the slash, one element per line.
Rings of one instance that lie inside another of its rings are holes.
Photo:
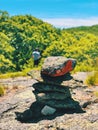
<path fill-rule="evenodd" d="M 82 28 L 82 29 L 81 29 Z M 59 29 L 31 15 L 9 16 L 0 11 L 0 73 L 33 68 L 32 50 L 39 47 L 43 59 L 62 55 L 77 59 L 78 71 L 98 66 L 98 25 Z"/>

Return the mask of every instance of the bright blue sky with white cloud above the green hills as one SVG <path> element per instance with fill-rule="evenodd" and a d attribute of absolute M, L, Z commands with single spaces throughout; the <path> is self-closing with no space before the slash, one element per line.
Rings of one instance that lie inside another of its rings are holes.
<path fill-rule="evenodd" d="M 59 28 L 98 24 L 98 0 L 0 0 L 0 10 L 30 14 Z"/>

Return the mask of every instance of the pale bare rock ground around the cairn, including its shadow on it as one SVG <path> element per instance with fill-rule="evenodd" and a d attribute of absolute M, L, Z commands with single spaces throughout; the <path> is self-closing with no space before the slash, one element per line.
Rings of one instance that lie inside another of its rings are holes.
<path fill-rule="evenodd" d="M 70 86 L 72 99 L 79 103 L 82 111 L 63 109 L 48 116 L 40 114 L 44 105 L 36 103 L 32 93 L 32 84 L 36 80 L 7 80 L 16 81 L 14 83 L 19 86 L 25 84 L 25 87 L 0 97 L 0 130 L 98 130 L 98 97 L 94 94 L 98 92 L 98 86 L 87 87 L 82 82 L 83 78 L 72 77 L 74 80 L 71 78 L 62 84 Z M 7 83 L 6 80 L 3 81 Z M 9 86 L 12 85 L 11 82 Z"/>

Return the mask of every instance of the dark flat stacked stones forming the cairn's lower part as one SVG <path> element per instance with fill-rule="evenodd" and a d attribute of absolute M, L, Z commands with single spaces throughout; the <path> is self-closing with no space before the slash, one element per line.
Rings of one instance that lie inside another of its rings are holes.
<path fill-rule="evenodd" d="M 69 87 L 38 82 L 33 85 L 36 101 L 57 109 L 76 109 L 78 102 L 71 98 Z"/>

